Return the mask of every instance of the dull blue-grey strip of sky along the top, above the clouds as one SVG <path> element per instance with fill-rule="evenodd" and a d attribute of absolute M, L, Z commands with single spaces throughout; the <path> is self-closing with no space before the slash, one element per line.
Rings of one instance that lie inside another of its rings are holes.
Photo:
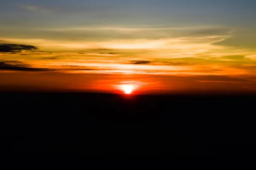
<path fill-rule="evenodd" d="M 1 4 L 0 22 L 16 26 L 219 24 L 242 27 L 255 26 L 256 17 L 254 0 L 2 0 Z"/>

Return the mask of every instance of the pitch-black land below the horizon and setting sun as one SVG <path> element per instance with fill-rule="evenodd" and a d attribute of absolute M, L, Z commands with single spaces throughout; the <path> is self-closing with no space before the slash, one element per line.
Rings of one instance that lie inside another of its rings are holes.
<path fill-rule="evenodd" d="M 244 167 L 256 153 L 255 102 L 241 95 L 2 93 L 2 153 L 119 169 Z"/>

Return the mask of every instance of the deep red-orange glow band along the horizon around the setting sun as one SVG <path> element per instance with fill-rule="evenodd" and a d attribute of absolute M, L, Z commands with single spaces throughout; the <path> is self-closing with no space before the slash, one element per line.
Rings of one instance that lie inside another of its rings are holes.
<path fill-rule="evenodd" d="M 0 91 L 96 92 L 123 95 L 185 93 L 255 93 L 255 77 L 155 76 L 64 73 L 0 74 Z M 33 79 L 35 81 L 31 82 Z M 253 81 L 254 80 L 254 81 Z M 212 91 L 215 89 L 215 91 Z"/>

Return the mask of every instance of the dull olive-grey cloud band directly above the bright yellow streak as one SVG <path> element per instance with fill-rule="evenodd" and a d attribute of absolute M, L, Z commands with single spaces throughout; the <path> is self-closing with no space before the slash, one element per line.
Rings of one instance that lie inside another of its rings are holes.
<path fill-rule="evenodd" d="M 51 37 L 55 40 L 159 40 L 193 37 L 209 37 L 214 42 L 220 42 L 230 37 L 233 28 L 223 27 L 188 27 L 188 28 L 145 28 L 141 26 L 120 27 L 120 26 L 62 26 L 62 27 L 41 27 L 32 31 L 27 30 L 26 34 L 37 38 Z M 26 31 L 26 30 L 25 30 Z M 202 42 L 209 39 L 201 39 Z M 195 41 L 195 39 L 193 40 Z M 197 39 L 197 41 L 199 41 Z M 102 47 L 107 48 L 107 47 Z"/>

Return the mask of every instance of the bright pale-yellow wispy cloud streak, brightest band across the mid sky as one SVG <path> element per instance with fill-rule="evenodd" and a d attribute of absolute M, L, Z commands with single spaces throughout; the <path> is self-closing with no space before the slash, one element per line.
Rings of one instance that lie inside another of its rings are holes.
<path fill-rule="evenodd" d="M 91 49 L 107 48 L 125 52 L 127 55 L 147 56 L 148 58 L 177 58 L 192 57 L 200 54 L 204 57 L 233 55 L 229 48 L 215 45 L 215 42 L 224 40 L 228 36 L 200 36 L 200 37 L 177 37 L 158 40 L 105 40 L 105 41 L 56 41 L 43 39 L 6 39 L 16 43 L 35 44 L 42 50 L 50 51 L 80 51 L 86 52 Z M 98 52 L 101 54 L 102 52 Z M 208 53 L 208 54 L 205 54 Z M 222 53 L 222 54 L 221 54 Z M 103 54 L 103 55 L 106 55 Z M 114 55 L 108 53 L 108 55 Z"/>

